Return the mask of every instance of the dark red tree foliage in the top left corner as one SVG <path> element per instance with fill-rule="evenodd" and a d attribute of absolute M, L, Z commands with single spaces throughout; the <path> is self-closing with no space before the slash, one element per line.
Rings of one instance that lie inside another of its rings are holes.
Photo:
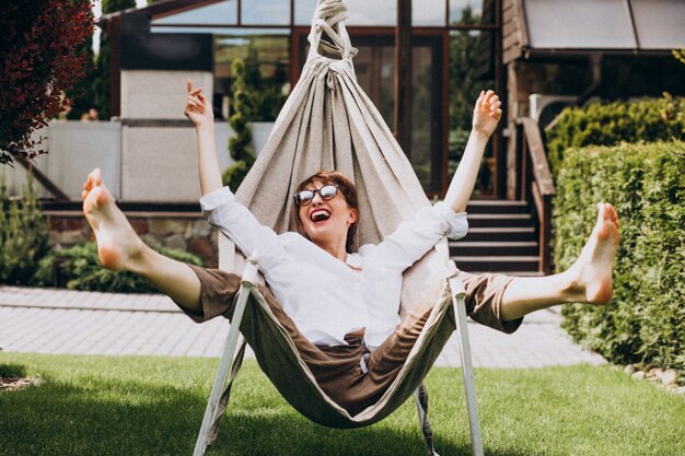
<path fill-rule="evenodd" d="M 79 45 L 93 34 L 90 0 L 13 0 L 0 9 L 0 164 L 33 159 L 31 133 L 65 110 L 85 73 Z"/>

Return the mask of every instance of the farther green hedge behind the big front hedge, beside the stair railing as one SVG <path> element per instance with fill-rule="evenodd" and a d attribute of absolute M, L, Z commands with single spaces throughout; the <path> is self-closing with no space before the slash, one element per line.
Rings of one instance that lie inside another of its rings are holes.
<path fill-rule="evenodd" d="M 555 175 L 568 148 L 620 142 L 685 140 L 685 98 L 642 98 L 596 103 L 564 110 L 546 131 L 547 155 Z"/>

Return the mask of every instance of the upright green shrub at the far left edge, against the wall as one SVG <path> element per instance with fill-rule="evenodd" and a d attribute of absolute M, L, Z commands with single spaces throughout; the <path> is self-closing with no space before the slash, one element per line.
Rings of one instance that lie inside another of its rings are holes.
<path fill-rule="evenodd" d="M 0 178 L 0 283 L 21 285 L 31 281 L 38 260 L 47 253 L 48 233 L 31 177 L 21 198 L 14 200 L 8 198 Z"/>

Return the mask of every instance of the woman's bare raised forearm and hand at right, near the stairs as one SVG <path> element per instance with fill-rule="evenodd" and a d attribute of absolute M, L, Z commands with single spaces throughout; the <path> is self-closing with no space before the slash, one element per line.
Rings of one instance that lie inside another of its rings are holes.
<path fill-rule="evenodd" d="M 474 120 L 464 156 L 452 177 L 444 202 L 454 212 L 463 212 L 471 198 L 483 162 L 485 147 L 502 117 L 502 103 L 492 91 L 480 92 L 474 108 Z"/>

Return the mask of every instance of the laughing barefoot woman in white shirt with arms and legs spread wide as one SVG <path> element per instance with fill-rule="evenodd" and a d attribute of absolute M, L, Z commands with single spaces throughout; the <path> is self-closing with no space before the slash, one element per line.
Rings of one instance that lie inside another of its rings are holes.
<path fill-rule="evenodd" d="M 466 203 L 489 137 L 501 117 L 501 103 L 481 92 L 464 157 L 443 202 L 418 211 L 378 246 L 349 252 L 358 222 L 353 185 L 339 173 L 322 172 L 293 195 L 301 234 L 277 235 L 262 226 L 223 188 L 217 162 L 211 107 L 188 81 L 186 115 L 198 139 L 200 199 L 210 223 L 245 255 L 259 249 L 259 268 L 275 297 L 267 301 L 289 331 L 320 386 L 351 414 L 378 400 L 404 364 L 430 309 L 399 324 L 402 273 L 445 234 L 466 234 Z M 84 212 L 95 232 L 106 268 L 141 274 L 170 295 L 197 321 L 231 312 L 240 278 L 185 265 L 147 247 L 118 210 L 98 171 L 84 185 Z M 612 265 L 618 244 L 618 219 L 600 204 L 597 222 L 576 264 L 560 274 L 512 278 L 467 274 L 472 318 L 512 332 L 522 317 L 565 302 L 606 303 L 612 295 Z M 245 335 L 257 341 L 258 331 Z"/>

